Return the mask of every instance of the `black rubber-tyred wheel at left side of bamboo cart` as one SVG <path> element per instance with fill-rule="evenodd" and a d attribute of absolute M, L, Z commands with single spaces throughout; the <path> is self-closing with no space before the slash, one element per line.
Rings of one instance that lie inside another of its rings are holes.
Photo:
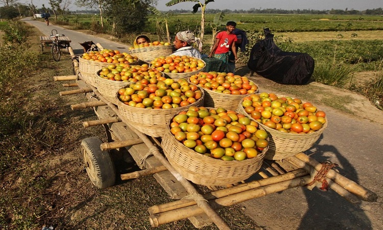
<path fill-rule="evenodd" d="M 116 174 L 108 151 L 102 151 L 103 142 L 98 137 L 88 137 L 81 142 L 81 155 L 90 181 L 99 189 L 114 185 Z"/>

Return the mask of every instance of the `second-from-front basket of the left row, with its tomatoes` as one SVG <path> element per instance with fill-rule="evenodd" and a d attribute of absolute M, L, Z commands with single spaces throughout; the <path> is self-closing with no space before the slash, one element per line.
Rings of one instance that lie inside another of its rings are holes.
<path fill-rule="evenodd" d="M 185 79 L 156 77 L 127 85 L 118 90 L 116 97 L 119 113 L 134 128 L 160 137 L 175 113 L 190 106 L 202 106 L 204 93 Z"/>

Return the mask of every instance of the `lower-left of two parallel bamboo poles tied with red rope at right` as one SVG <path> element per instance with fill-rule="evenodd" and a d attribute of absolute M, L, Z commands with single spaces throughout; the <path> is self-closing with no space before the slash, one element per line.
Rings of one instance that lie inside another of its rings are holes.
<path fill-rule="evenodd" d="M 298 159 L 295 156 L 290 156 L 290 157 L 286 158 L 286 160 L 288 160 L 288 162 L 290 162 L 291 164 L 297 166 L 298 168 L 305 169 L 308 173 L 310 173 L 311 170 L 313 169 L 311 166 L 309 166 L 306 163 L 302 162 L 302 160 Z M 315 172 L 318 173 L 317 170 L 315 170 Z M 326 177 L 326 181 L 327 181 L 328 187 L 330 189 L 334 190 L 336 193 L 341 195 L 343 198 L 345 198 L 349 202 L 354 203 L 354 204 L 361 203 L 360 199 L 358 199 L 357 196 L 355 196 L 354 194 L 352 194 L 349 191 L 345 190 L 343 187 L 338 185 L 338 183 L 332 181 L 331 179 L 329 179 L 327 177 Z"/>

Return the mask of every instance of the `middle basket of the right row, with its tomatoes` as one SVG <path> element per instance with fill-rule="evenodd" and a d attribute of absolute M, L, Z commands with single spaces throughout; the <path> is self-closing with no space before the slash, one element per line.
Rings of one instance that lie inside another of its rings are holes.
<path fill-rule="evenodd" d="M 233 73 L 200 72 L 188 80 L 203 88 L 206 107 L 236 110 L 242 98 L 258 92 L 253 81 Z"/>

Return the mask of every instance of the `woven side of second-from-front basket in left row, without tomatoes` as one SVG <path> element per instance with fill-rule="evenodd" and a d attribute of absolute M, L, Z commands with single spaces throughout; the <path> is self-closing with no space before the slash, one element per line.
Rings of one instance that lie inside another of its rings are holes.
<path fill-rule="evenodd" d="M 199 107 L 203 105 L 204 93 L 203 90 L 201 91 L 202 97 L 196 102 L 187 106 L 170 109 L 136 108 L 126 105 L 118 99 L 116 100 L 119 113 L 121 113 L 121 116 L 123 116 L 126 120 L 131 122 L 134 128 L 149 136 L 161 137 L 165 133 L 166 123 L 174 116 L 174 114 L 188 109 L 190 106 Z M 115 94 L 115 97 L 117 97 L 117 94 Z"/>

